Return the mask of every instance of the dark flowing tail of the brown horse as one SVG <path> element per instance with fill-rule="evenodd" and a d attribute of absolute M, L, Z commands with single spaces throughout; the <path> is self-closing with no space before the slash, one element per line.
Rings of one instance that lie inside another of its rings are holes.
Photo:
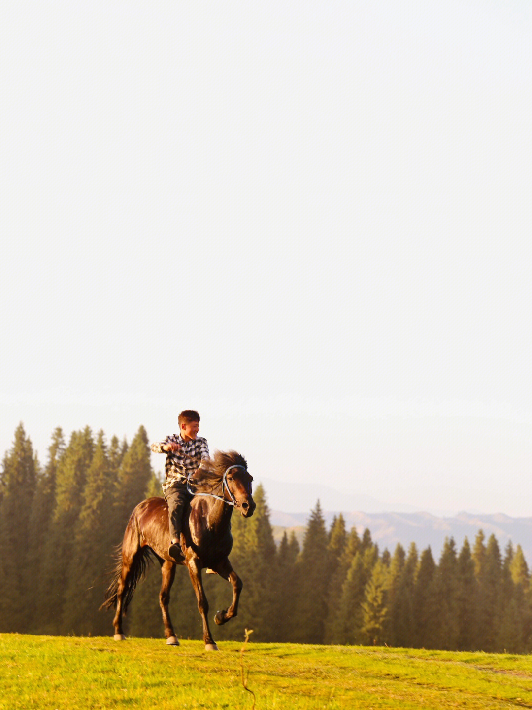
<path fill-rule="evenodd" d="M 151 562 L 150 552 L 152 550 L 147 545 L 144 547 L 140 545 L 140 532 L 134 510 L 125 528 L 122 544 L 116 547 L 113 577 L 100 609 L 110 609 L 116 606 L 118 587 L 122 583 L 122 611 L 123 613 L 127 611 L 133 592 L 145 576 L 149 562 Z"/>

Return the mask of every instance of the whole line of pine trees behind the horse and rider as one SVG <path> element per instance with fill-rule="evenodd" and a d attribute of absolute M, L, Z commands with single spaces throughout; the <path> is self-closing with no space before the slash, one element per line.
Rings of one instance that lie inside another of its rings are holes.
<path fill-rule="evenodd" d="M 57 428 L 42 467 L 23 425 L 0 472 L 0 631 L 111 635 L 111 613 L 98 611 L 132 509 L 161 486 L 147 432 L 132 442 L 86 427 L 65 442 Z M 253 628 L 264 642 L 383 645 L 448 650 L 532 652 L 532 580 L 521 546 L 479 530 L 458 551 L 446 538 L 436 562 L 412 543 L 379 550 L 366 528 L 327 530 L 319 502 L 302 545 L 294 533 L 276 545 L 262 486 L 256 510 L 232 516 L 230 559 L 244 581 L 239 615 L 215 627 L 218 640 L 242 640 Z M 230 586 L 204 577 L 210 609 L 227 608 Z M 162 638 L 157 561 L 137 587 L 126 633 Z M 179 567 L 171 616 L 181 638 L 201 638 L 196 598 Z M 213 614 L 213 611 L 211 611 Z"/>

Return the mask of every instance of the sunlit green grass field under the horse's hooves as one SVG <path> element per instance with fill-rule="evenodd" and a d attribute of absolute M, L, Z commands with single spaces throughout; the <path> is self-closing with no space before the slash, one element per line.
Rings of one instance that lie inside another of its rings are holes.
<path fill-rule="evenodd" d="M 253 637 L 251 637 L 252 639 Z M 532 657 L 0 634 L 1 710 L 532 708 Z"/>

